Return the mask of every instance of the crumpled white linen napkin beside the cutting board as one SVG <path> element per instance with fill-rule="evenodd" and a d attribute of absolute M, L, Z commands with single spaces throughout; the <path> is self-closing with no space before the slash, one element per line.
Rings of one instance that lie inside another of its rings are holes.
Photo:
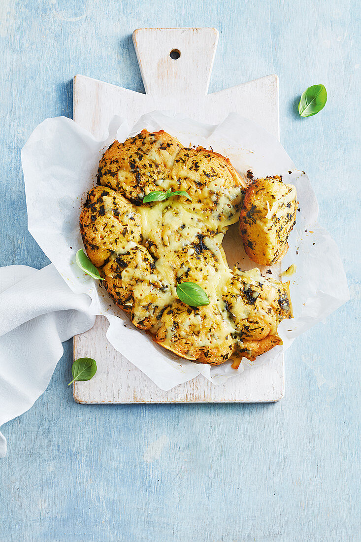
<path fill-rule="evenodd" d="M 0 268 L 0 427 L 46 390 L 62 342 L 90 329 L 91 298 L 75 294 L 53 264 Z M 0 433 L 0 457 L 7 441 Z"/>

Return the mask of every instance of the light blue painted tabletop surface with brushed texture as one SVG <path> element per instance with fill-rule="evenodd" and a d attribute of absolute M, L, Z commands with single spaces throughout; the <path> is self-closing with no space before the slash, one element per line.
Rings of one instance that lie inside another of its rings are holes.
<path fill-rule="evenodd" d="M 220 30 L 210 92 L 279 75 L 281 141 L 311 178 L 352 300 L 287 352 L 277 404 L 78 405 L 65 344 L 47 391 L 2 429 L 0 541 L 360 540 L 357 0 L 1 0 L 0 263 L 47 263 L 27 232 L 30 132 L 72 116 L 76 73 L 143 92 L 131 33 L 175 26 Z M 327 105 L 300 119 L 314 83 Z"/>

